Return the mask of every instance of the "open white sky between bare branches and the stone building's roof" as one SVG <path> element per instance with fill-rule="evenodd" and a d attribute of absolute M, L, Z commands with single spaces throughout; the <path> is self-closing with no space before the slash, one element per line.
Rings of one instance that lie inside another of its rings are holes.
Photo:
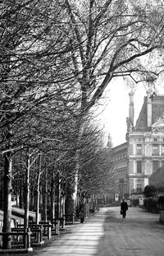
<path fill-rule="evenodd" d="M 110 133 L 112 136 L 113 147 L 125 142 L 126 117 L 129 116 L 130 104 L 129 92 L 130 89 L 126 88 L 122 81 L 117 80 L 108 86 L 104 94 L 104 110 L 99 118 L 101 124 L 105 126 L 106 135 L 108 136 Z M 145 95 L 144 86 L 139 86 L 134 93 L 134 124 L 139 117 Z M 107 137 L 105 140 L 107 140 Z"/>

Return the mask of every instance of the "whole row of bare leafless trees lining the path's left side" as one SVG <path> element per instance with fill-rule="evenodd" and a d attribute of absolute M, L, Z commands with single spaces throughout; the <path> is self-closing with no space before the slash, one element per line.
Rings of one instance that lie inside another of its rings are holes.
<path fill-rule="evenodd" d="M 62 196 L 66 210 L 75 211 L 78 189 L 113 189 L 116 177 L 93 111 L 116 77 L 149 85 L 162 72 L 163 2 L 4 0 L 0 19 L 0 170 L 7 232 L 14 193 L 25 207 L 27 228 L 34 203 L 38 216 L 42 200 L 46 219 L 51 202 L 54 218 Z M 160 62 L 153 61 L 156 56 Z M 3 248 L 9 247 L 10 240 L 3 240 Z"/>

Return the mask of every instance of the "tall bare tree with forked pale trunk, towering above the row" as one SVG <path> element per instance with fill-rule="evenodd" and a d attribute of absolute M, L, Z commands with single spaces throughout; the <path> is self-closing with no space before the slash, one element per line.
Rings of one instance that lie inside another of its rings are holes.
<path fill-rule="evenodd" d="M 157 10 L 157 2 L 151 6 L 144 2 L 139 6 L 125 0 L 66 0 L 63 6 L 70 26 L 73 85 L 80 87 L 84 115 L 98 103 L 114 78 L 128 76 L 136 81 L 136 76 L 144 80 L 157 76 L 140 59 L 162 47 L 163 6 Z M 82 126 L 79 127 L 79 138 L 83 133 Z M 80 139 L 77 144 L 80 144 Z M 79 151 L 76 151 L 75 168 L 77 193 Z"/>

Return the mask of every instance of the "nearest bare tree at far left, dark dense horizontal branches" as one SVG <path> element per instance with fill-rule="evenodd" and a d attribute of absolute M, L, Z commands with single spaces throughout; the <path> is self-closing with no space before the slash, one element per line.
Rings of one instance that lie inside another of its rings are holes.
<path fill-rule="evenodd" d="M 13 129 L 16 131 L 16 123 L 32 109 L 56 97 L 57 89 L 61 90 L 57 86 L 59 82 L 69 81 L 63 59 L 70 49 L 67 35 L 61 29 L 64 19 L 62 6 L 56 1 L 3 1 L 0 17 L 0 128 L 6 197 L 3 231 L 9 232 L 11 152 L 16 150 L 12 145 Z M 10 247 L 10 239 L 4 239 L 3 248 Z"/>

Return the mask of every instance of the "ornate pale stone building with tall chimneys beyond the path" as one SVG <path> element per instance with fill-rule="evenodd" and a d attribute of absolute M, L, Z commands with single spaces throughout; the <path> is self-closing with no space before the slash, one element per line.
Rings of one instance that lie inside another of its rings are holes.
<path fill-rule="evenodd" d="M 134 198 L 142 196 L 150 175 L 164 164 L 164 96 L 148 91 L 134 125 L 134 92 L 130 92 L 126 123 L 126 142 L 112 148 L 112 162 L 117 172 L 118 193 Z"/>

